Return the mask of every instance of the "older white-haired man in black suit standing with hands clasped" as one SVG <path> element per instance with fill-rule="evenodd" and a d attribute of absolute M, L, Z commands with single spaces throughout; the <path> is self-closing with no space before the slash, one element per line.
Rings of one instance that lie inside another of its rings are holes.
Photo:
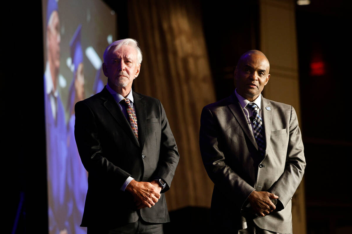
<path fill-rule="evenodd" d="M 163 233 L 164 193 L 179 160 L 161 102 L 132 91 L 142 62 L 137 41 L 113 42 L 104 89 L 75 106 L 75 138 L 88 171 L 81 226 L 88 233 Z"/>

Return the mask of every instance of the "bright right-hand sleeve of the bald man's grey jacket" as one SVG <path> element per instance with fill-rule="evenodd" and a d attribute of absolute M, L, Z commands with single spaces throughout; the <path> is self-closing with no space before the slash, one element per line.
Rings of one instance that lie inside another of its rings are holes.
<path fill-rule="evenodd" d="M 285 169 L 280 178 L 270 188 L 270 192 L 279 196 L 283 207 L 290 201 L 303 178 L 306 159 L 300 128 L 295 109 L 291 107 L 289 141 Z M 279 211 L 279 210 L 277 210 Z"/>

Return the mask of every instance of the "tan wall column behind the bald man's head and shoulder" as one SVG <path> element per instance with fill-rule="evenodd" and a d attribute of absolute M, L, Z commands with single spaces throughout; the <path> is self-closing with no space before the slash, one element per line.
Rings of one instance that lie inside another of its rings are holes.
<path fill-rule="evenodd" d="M 270 61 L 265 98 L 292 105 L 301 126 L 295 1 L 260 0 L 260 50 Z M 305 234 L 304 179 L 292 198 L 293 233 Z"/>

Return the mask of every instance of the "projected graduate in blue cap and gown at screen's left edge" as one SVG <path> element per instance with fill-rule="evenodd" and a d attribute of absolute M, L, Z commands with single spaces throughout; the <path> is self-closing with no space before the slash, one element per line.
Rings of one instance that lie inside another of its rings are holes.
<path fill-rule="evenodd" d="M 50 233 L 67 233 L 70 212 L 67 196 L 67 134 L 65 113 L 58 91 L 60 68 L 60 19 L 55 0 L 48 1 L 46 11 L 46 66 L 44 102 L 48 179 L 48 216 Z"/>

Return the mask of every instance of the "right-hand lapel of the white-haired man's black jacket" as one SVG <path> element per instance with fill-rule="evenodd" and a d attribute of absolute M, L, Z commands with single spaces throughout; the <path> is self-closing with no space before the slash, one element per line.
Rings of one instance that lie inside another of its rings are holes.
<path fill-rule="evenodd" d="M 146 134 L 146 119 L 147 119 L 147 107 L 143 97 L 132 91 L 133 95 L 133 105 L 137 116 L 137 126 L 138 126 L 138 141 L 140 147 L 143 149 L 145 134 Z"/>

